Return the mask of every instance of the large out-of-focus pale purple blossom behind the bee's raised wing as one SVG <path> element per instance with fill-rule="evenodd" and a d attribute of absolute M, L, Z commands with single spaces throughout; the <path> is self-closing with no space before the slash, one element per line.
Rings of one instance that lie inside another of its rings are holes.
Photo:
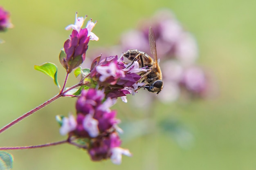
<path fill-rule="evenodd" d="M 176 57 L 189 64 L 198 57 L 198 47 L 191 33 L 184 31 L 182 24 L 170 10 L 158 11 L 153 18 L 139 22 L 139 30 L 131 30 L 121 36 L 121 48 L 139 49 L 150 54 L 148 28 L 152 26 L 157 45 L 157 57 L 161 60 Z"/>

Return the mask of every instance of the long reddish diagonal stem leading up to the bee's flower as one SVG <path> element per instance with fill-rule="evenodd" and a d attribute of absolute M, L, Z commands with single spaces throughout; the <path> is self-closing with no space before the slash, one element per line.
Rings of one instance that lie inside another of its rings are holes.
<path fill-rule="evenodd" d="M 18 123 L 19 121 L 21 121 L 22 119 L 28 117 L 29 115 L 35 113 L 36 111 L 40 110 L 41 108 L 47 106 L 48 104 L 52 103 L 53 101 L 55 101 L 56 99 L 58 99 L 59 97 L 63 96 L 65 93 L 67 93 L 68 91 L 72 90 L 73 88 L 76 88 L 80 85 L 81 83 L 78 83 L 70 88 L 68 88 L 66 91 L 63 91 L 62 93 L 59 93 L 58 95 L 52 97 L 52 99 L 47 100 L 45 103 L 37 106 L 36 108 L 30 110 L 29 112 L 25 113 L 24 115 L 18 117 L 17 119 L 13 120 L 11 123 L 7 124 L 6 126 L 4 126 L 3 128 L 0 129 L 0 133 L 2 133 L 4 130 L 7 130 L 8 128 L 10 128 L 11 126 L 15 125 L 16 123 Z"/>

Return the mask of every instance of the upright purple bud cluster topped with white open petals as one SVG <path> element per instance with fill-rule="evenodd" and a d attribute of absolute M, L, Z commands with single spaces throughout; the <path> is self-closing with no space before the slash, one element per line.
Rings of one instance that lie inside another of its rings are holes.
<path fill-rule="evenodd" d="M 82 29 L 83 22 L 86 18 L 77 18 L 74 24 L 66 27 L 67 30 L 73 29 L 70 38 L 64 43 L 64 51 L 61 51 L 59 60 L 62 66 L 70 73 L 74 68 L 79 66 L 85 60 L 85 53 L 88 49 L 90 40 L 99 40 L 99 38 L 92 33 L 96 22 L 88 21 L 86 27 Z"/>

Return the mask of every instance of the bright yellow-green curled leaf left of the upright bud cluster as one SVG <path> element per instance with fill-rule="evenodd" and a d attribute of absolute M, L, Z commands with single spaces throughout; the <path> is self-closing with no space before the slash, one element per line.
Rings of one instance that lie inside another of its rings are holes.
<path fill-rule="evenodd" d="M 41 71 L 41 72 L 45 73 L 46 75 L 52 77 L 56 86 L 58 86 L 59 88 L 61 87 L 58 84 L 58 80 L 57 80 L 58 68 L 55 64 L 47 62 L 47 63 L 44 63 L 43 65 L 40 65 L 40 66 L 35 65 L 34 68 L 35 68 L 35 70 Z"/>

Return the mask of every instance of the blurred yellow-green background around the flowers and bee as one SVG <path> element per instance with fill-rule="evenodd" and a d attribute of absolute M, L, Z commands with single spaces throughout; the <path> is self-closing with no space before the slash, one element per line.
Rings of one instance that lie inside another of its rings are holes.
<path fill-rule="evenodd" d="M 112 46 L 120 34 L 136 27 L 160 8 L 173 10 L 183 26 L 195 35 L 198 64 L 214 75 L 218 95 L 193 102 L 156 102 L 155 122 L 161 118 L 186 126 L 193 135 L 189 147 L 181 147 L 172 135 L 155 132 L 124 138 L 122 147 L 133 157 L 123 157 L 120 166 L 111 161 L 92 162 L 86 151 L 67 144 L 34 150 L 10 151 L 13 170 L 255 170 L 256 168 L 256 1 L 254 0 L 1 0 L 11 12 L 14 25 L 0 44 L 0 126 L 58 93 L 52 80 L 35 64 L 53 62 L 63 83 L 64 69 L 58 54 L 74 22 L 75 12 L 97 20 L 92 47 Z M 77 80 L 70 76 L 68 86 Z M 121 101 L 118 116 L 130 121 L 144 118 L 142 108 Z M 0 134 L 0 146 L 26 146 L 64 139 L 55 115 L 74 113 L 75 99 L 61 98 Z M 126 110 L 126 111 L 124 111 Z M 137 112 L 136 112 L 137 110 Z M 154 124 L 152 123 L 152 124 Z"/>

